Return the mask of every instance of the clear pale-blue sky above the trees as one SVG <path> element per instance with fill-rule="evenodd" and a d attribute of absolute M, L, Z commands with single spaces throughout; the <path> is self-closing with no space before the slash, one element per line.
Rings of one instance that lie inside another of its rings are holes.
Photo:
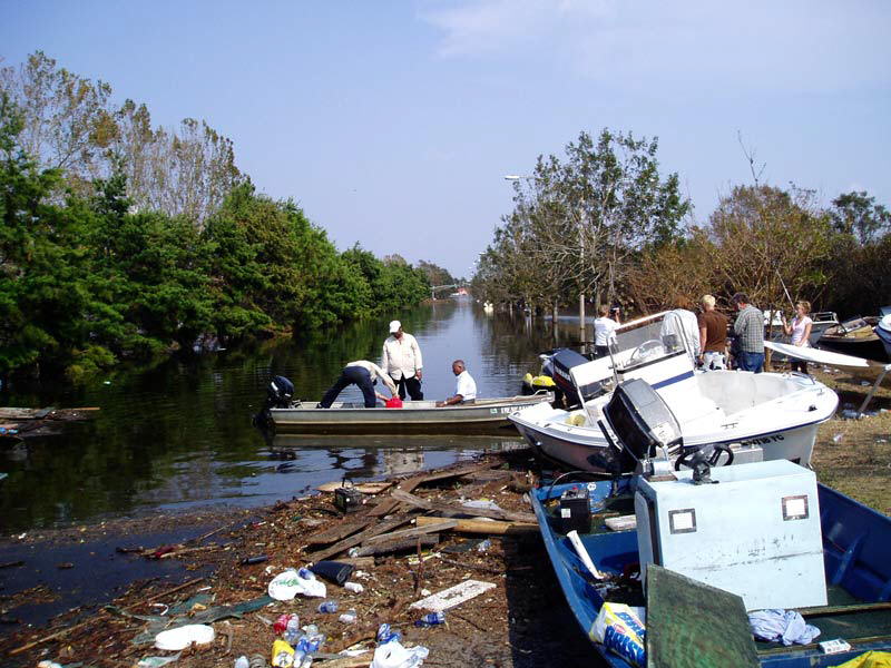
<path fill-rule="evenodd" d="M 695 217 L 751 183 L 891 205 L 891 2 L 0 0 L 0 57 L 42 49 L 235 141 L 258 189 L 339 248 L 469 275 L 528 173 L 580 130 L 659 138 Z"/>

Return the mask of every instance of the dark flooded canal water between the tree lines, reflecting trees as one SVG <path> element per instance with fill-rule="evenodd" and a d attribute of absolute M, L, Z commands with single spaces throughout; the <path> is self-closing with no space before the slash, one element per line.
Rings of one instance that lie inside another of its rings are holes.
<path fill-rule="evenodd" d="M 399 317 L 424 357 L 428 399 L 453 393 L 452 360 L 467 361 L 480 396 L 519 392 L 552 345 L 549 321 L 487 315 L 470 299 L 440 301 Z M 516 446 L 505 436 L 294 436 L 264 439 L 252 426 L 272 375 L 290 377 L 315 400 L 353 360 L 380 361 L 390 317 L 309 343 L 270 342 L 149 370 L 120 371 L 78 389 L 0 394 L 0 405 L 99 406 L 96 420 L 61 433 L 0 444 L 0 531 L 226 503 L 257 505 L 320 483 L 440 466 L 482 451 Z M 569 338 L 572 325 L 561 324 Z M 361 400 L 353 386 L 344 400 Z M 276 453 L 293 450 L 283 461 Z"/>

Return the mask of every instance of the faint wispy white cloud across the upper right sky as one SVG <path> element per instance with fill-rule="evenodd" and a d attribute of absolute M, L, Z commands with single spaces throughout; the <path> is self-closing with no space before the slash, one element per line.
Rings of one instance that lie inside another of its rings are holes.
<path fill-rule="evenodd" d="M 444 58 L 510 55 L 621 88 L 891 88 L 891 3 L 714 0 L 428 0 Z"/>

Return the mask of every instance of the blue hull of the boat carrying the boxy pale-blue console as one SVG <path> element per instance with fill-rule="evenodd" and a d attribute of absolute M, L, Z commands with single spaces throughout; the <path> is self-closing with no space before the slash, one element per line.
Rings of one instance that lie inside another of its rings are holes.
<path fill-rule="evenodd" d="M 623 493 L 629 493 L 629 479 L 600 481 L 590 497 L 595 504 L 603 504 Z M 538 518 L 541 537 L 554 566 L 557 580 L 582 632 L 591 639 L 591 628 L 604 603 L 598 588 L 586 577 L 586 569 L 569 540 L 555 530 L 552 515 L 544 502 L 557 499 L 571 484 L 541 488 L 532 494 L 532 507 Z M 821 527 L 823 530 L 823 557 L 826 582 L 840 587 L 862 602 L 891 600 L 891 518 L 858 503 L 830 488 L 819 485 Z M 620 574 L 627 567 L 638 562 L 637 532 L 605 531 L 582 534 L 581 540 L 600 571 Z M 613 602 L 623 601 L 616 593 L 609 595 Z M 804 611 L 805 617 L 817 613 L 817 609 Z M 852 612 L 852 616 L 856 612 Z M 852 617 L 853 619 L 853 617 Z M 819 623 L 817 623 L 819 626 Z M 831 638 L 820 638 L 829 640 Z M 849 639 L 849 641 L 851 641 Z M 609 666 L 631 668 L 624 659 L 594 642 L 594 648 Z M 816 645 L 773 648 L 758 645 L 758 660 L 767 668 L 821 668 L 838 666 L 869 650 L 891 650 L 891 628 L 879 636 L 851 641 L 848 652 L 823 655 Z"/>

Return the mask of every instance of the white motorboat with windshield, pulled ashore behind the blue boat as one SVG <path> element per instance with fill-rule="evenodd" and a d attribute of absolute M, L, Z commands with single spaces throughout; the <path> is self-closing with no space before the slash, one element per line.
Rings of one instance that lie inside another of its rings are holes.
<path fill-rule="evenodd" d="M 613 387 L 643 379 L 674 413 L 684 446 L 728 445 L 735 463 L 787 459 L 807 465 L 819 424 L 835 413 L 836 394 L 804 374 L 696 371 L 684 342 L 662 337 L 658 332 L 665 330 L 654 328 L 664 315 L 625 326 L 625 333 L 634 335 L 630 340 L 653 338 L 618 350 L 619 332 L 609 356 L 570 370 L 579 395 L 586 397 L 581 407 L 562 410 L 542 403 L 509 415 L 530 445 L 574 469 L 621 469 L 620 453 L 608 446 L 598 422 Z"/>

